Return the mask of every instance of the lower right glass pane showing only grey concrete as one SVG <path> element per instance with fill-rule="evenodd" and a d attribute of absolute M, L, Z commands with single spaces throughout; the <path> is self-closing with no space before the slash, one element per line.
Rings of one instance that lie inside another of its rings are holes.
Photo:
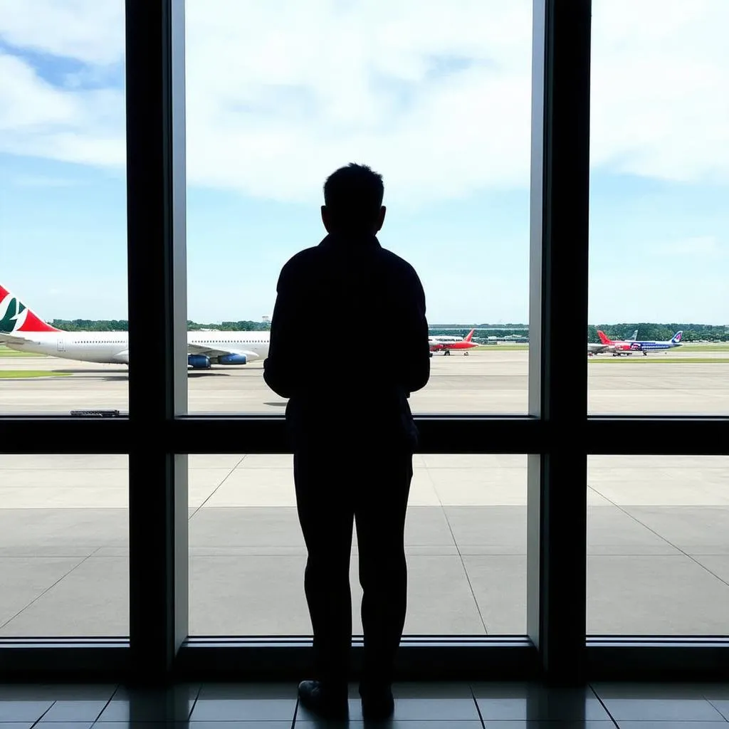
<path fill-rule="evenodd" d="M 729 633 L 728 486 L 728 456 L 589 456 L 589 634 Z"/>

